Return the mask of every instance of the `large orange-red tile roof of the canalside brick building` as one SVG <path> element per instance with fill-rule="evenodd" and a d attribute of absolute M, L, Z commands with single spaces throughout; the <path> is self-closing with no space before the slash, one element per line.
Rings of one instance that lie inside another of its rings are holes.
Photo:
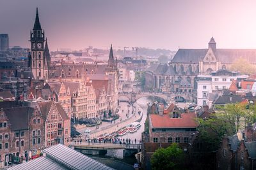
<path fill-rule="evenodd" d="M 150 120 L 153 127 L 197 127 L 194 112 L 182 113 L 181 118 L 171 118 L 169 115 L 151 114 Z"/>

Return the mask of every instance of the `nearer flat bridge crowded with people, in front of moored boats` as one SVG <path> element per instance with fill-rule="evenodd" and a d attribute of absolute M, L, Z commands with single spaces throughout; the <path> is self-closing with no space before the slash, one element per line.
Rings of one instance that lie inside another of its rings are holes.
<path fill-rule="evenodd" d="M 119 144 L 119 143 L 71 143 L 75 150 L 140 150 L 141 144 Z"/>

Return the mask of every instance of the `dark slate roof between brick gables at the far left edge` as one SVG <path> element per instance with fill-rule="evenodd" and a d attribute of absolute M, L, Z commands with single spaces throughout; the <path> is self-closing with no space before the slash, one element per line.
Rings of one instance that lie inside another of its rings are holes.
<path fill-rule="evenodd" d="M 12 131 L 29 128 L 28 118 L 31 111 L 33 111 L 33 108 L 29 107 L 15 107 L 4 109 L 4 113 L 10 121 Z"/>

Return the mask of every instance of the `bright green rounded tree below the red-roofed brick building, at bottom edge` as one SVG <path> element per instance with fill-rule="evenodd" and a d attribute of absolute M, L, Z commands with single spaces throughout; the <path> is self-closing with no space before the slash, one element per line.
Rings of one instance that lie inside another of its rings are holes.
<path fill-rule="evenodd" d="M 154 170 L 182 169 L 184 153 L 177 143 L 173 143 L 168 148 L 156 150 L 150 159 L 150 163 Z"/>

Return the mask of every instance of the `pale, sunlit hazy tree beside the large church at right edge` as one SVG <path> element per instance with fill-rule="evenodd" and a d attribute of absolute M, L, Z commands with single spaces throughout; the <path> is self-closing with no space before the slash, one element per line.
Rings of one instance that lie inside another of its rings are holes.
<path fill-rule="evenodd" d="M 255 74 L 256 66 L 241 57 L 234 61 L 234 63 L 230 66 L 230 70 L 236 70 L 242 74 Z"/>

